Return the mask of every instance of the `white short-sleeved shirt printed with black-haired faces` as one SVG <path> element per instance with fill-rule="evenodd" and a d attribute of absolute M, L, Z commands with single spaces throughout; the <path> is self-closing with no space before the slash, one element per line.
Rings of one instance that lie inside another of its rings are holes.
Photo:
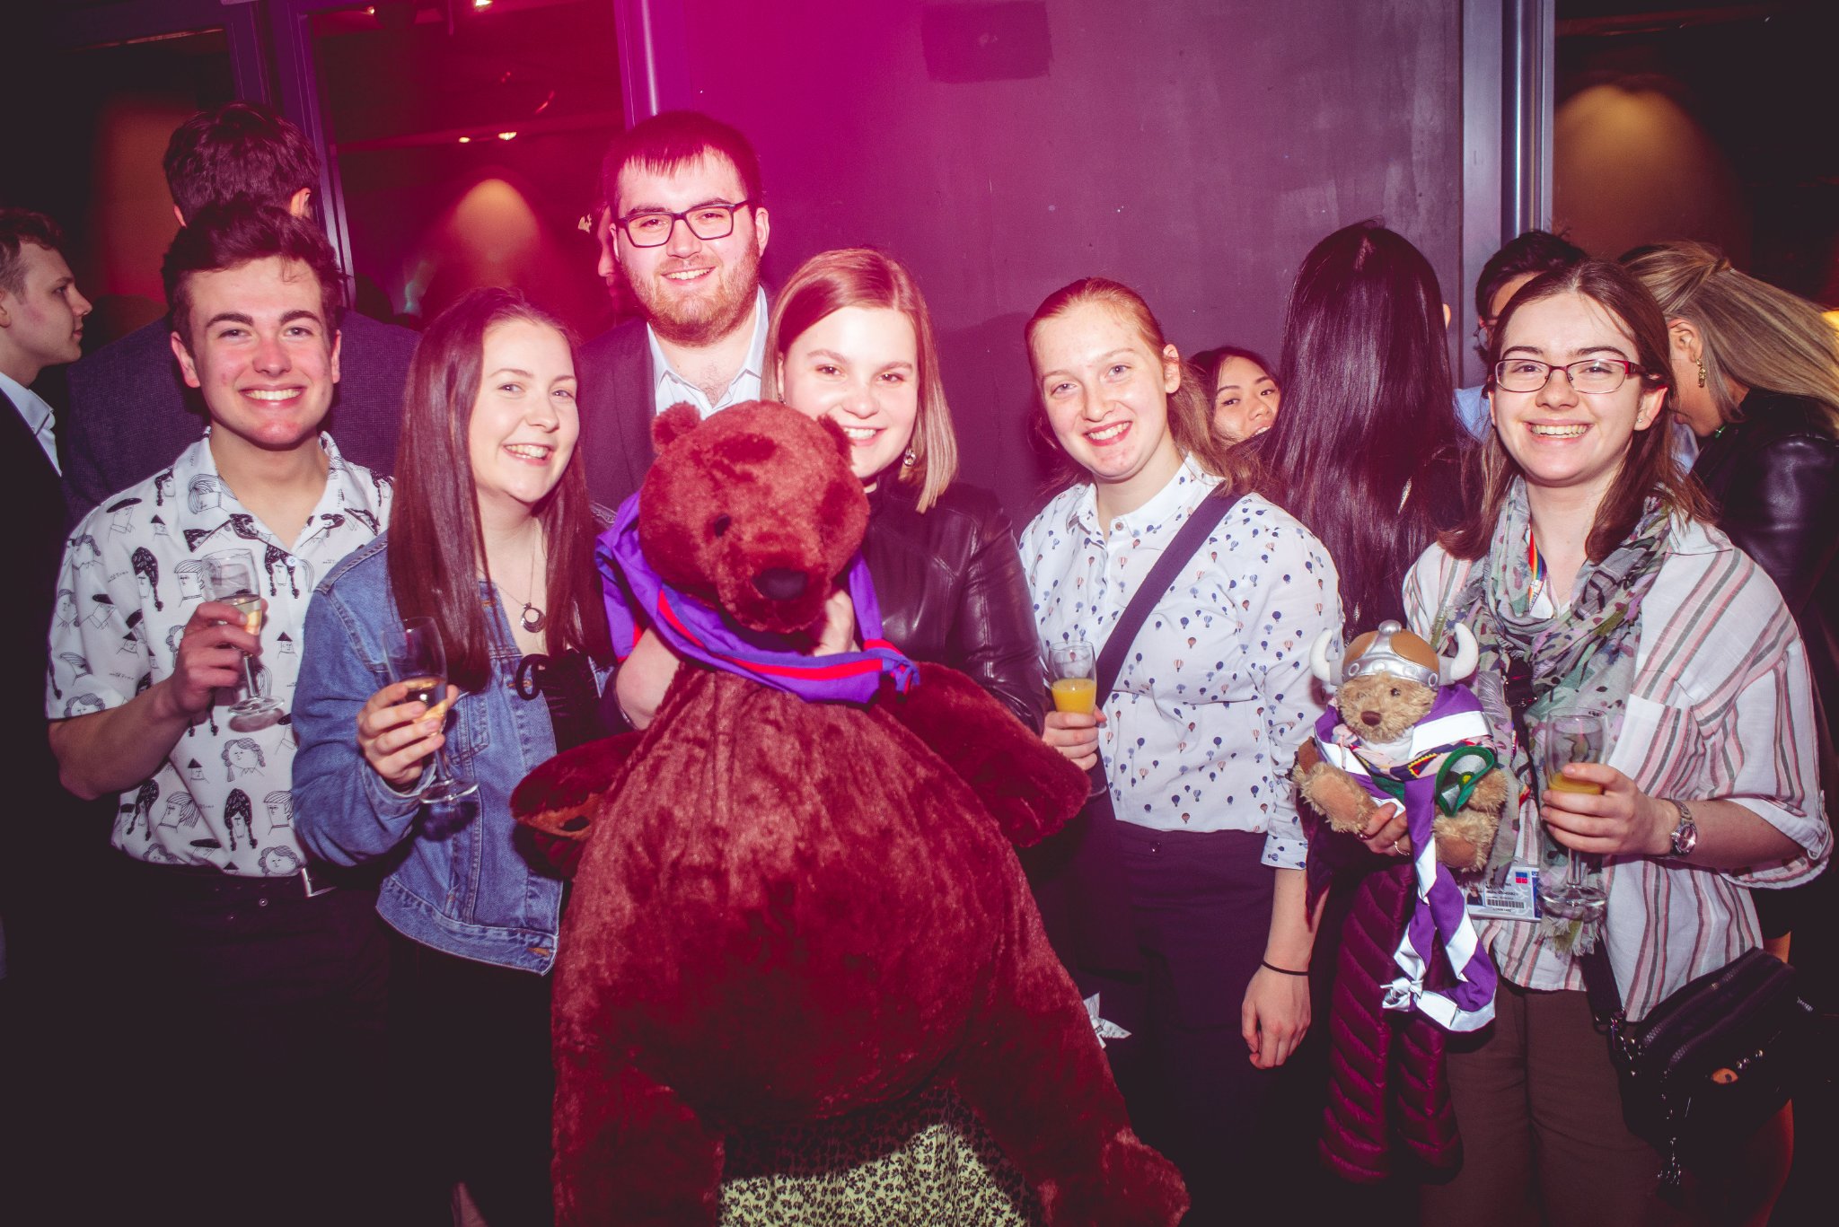
<path fill-rule="evenodd" d="M 103 500 L 72 532 L 51 614 L 51 719 L 120 706 L 173 673 L 178 636 L 204 600 L 204 559 L 246 550 L 268 600 L 257 681 L 292 706 L 300 629 L 313 585 L 388 522 L 390 480 L 338 456 L 329 434 L 326 491 L 300 539 L 281 543 L 243 510 L 217 476 L 210 432 L 140 486 Z M 226 874 L 300 872 L 289 795 L 292 719 L 239 732 L 230 705 L 245 686 L 219 690 L 211 708 L 178 736 L 166 763 L 121 793 L 112 843 L 154 865 L 211 865 Z"/>

